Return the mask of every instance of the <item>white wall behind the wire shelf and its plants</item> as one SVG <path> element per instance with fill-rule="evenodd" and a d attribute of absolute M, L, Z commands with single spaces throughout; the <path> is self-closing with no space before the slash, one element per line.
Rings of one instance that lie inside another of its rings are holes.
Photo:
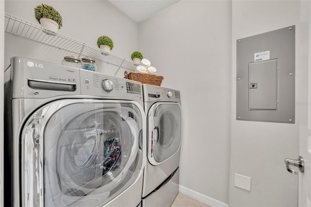
<path fill-rule="evenodd" d="M 37 23 L 34 8 L 40 3 L 53 6 L 63 17 L 63 27 L 59 33 L 96 46 L 97 37 L 107 35 L 114 41 L 113 53 L 130 59 L 138 50 L 138 24 L 123 14 L 109 1 L 96 0 L 6 0 L 5 12 Z M 64 56 L 71 55 L 50 46 L 5 34 L 5 64 L 13 56 L 22 56 L 61 64 Z M 99 72 L 114 75 L 116 68 L 97 62 Z M 122 70 L 118 73 L 123 77 Z"/>

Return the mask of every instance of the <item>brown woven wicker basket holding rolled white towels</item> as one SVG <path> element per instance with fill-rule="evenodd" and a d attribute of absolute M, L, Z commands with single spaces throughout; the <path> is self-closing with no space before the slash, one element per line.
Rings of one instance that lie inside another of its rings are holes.
<path fill-rule="evenodd" d="M 155 85 L 155 86 L 161 86 L 161 83 L 163 81 L 163 76 L 141 74 L 137 72 L 127 73 L 126 70 L 124 71 L 124 78 L 133 80 L 133 81 L 138 81 L 142 84 L 149 84 L 149 85 Z"/>

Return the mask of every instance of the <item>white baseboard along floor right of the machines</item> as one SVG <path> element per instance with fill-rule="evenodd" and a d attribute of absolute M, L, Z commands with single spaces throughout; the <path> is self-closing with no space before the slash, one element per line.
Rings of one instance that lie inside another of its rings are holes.
<path fill-rule="evenodd" d="M 225 204 L 219 200 L 208 197 L 207 195 L 204 195 L 181 185 L 179 185 L 179 192 L 184 193 L 185 195 L 195 198 L 196 200 L 206 203 L 207 205 L 212 207 L 228 207 L 228 204 Z"/>

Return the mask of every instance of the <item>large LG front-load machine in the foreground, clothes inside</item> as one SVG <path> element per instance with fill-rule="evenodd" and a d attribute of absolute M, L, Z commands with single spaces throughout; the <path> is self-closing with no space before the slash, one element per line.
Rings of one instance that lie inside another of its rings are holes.
<path fill-rule="evenodd" d="M 140 83 L 21 57 L 5 80 L 5 206 L 140 205 Z"/>

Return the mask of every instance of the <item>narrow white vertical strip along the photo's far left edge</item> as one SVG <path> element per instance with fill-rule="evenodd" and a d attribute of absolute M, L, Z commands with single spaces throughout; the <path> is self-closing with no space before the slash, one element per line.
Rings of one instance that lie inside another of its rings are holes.
<path fill-rule="evenodd" d="M 4 91 L 4 0 L 0 0 L 0 97 Z M 0 98 L 0 206 L 3 206 L 3 104 Z"/>

